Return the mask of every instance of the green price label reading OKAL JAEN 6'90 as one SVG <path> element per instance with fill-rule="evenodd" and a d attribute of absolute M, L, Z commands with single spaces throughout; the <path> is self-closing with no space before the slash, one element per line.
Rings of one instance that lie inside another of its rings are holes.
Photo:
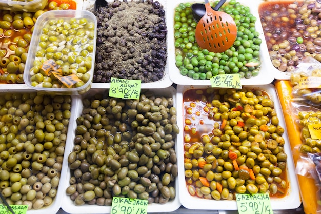
<path fill-rule="evenodd" d="M 113 197 L 111 214 L 147 214 L 147 200 Z"/>

